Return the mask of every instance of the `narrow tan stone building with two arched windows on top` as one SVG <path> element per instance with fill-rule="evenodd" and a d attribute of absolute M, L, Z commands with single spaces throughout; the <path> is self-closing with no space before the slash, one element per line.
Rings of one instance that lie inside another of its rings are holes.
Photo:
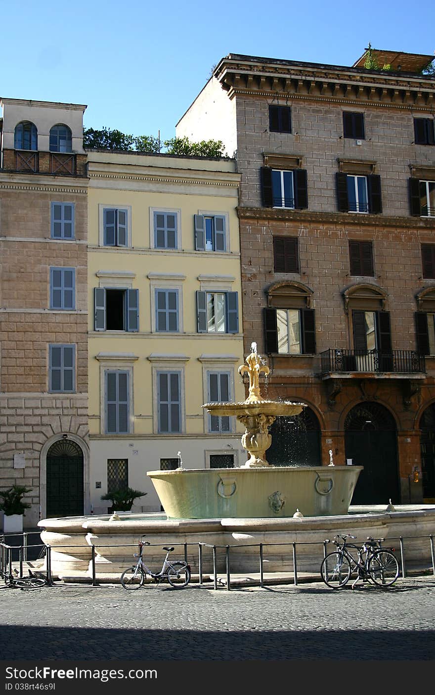
<path fill-rule="evenodd" d="M 30 528 L 89 510 L 85 106 L 1 106 L 0 484 Z"/>

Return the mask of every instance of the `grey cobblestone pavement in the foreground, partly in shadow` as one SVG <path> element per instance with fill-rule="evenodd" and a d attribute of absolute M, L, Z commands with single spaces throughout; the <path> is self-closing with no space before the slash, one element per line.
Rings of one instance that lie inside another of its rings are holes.
<path fill-rule="evenodd" d="M 435 660 L 435 579 L 386 591 L 325 584 L 0 590 L 3 660 Z"/>

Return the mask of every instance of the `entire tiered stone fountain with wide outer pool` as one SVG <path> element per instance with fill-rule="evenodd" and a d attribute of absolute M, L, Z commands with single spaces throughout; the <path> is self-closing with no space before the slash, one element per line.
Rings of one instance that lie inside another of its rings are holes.
<path fill-rule="evenodd" d="M 259 377 L 269 368 L 256 352 L 240 366 L 240 375 L 249 376 L 248 398 L 240 403 L 206 403 L 215 416 L 236 416 L 245 425 L 242 437 L 247 461 L 240 468 L 149 471 L 165 509 L 162 514 L 120 513 L 110 518 L 82 516 L 51 518 L 39 522 L 42 541 L 51 548 L 51 567 L 59 577 L 92 576 L 92 546 L 95 547 L 99 578 L 119 579 L 131 564 L 137 539 L 146 534 L 158 550 L 168 543 L 191 544 L 192 570 L 197 543 L 217 546 L 217 571 L 225 569 L 225 548 L 231 546 L 231 571 L 256 572 L 258 544 L 268 546 L 268 572 L 288 571 L 293 565 L 291 544 L 298 546 L 298 565 L 318 572 L 322 541 L 336 533 L 352 533 L 359 539 L 372 537 L 414 537 L 407 541 L 407 562 L 429 561 L 427 538 L 434 533 L 435 506 L 388 505 L 352 508 L 349 505 L 362 466 L 336 466 L 329 450 L 325 466 L 273 466 L 266 459 L 271 444 L 269 427 L 277 416 L 299 414 L 304 403 L 265 400 Z M 285 549 L 277 546 L 286 546 Z M 202 569 L 210 572 L 211 558 Z"/>

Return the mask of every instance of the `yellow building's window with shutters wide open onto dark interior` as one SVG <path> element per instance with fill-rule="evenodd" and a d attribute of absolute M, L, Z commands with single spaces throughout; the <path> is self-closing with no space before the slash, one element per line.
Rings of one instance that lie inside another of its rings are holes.
<path fill-rule="evenodd" d="M 139 330 L 139 291 L 96 287 L 95 330 Z"/>

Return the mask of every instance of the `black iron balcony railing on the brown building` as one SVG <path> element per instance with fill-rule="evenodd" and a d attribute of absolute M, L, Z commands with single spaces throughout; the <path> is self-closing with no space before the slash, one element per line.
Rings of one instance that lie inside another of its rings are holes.
<path fill-rule="evenodd" d="M 391 372 L 421 374 L 426 371 L 425 356 L 415 350 L 325 350 L 320 353 L 322 374 L 330 372 Z"/>

